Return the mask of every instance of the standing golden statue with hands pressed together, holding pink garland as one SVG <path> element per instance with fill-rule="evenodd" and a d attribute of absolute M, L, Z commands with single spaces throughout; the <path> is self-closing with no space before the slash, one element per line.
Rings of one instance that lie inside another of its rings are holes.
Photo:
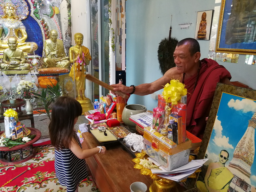
<path fill-rule="evenodd" d="M 92 57 L 89 49 L 82 45 L 84 35 L 81 33 L 76 33 L 74 37 L 76 45 L 69 48 L 69 60 L 70 63 L 73 63 L 69 76 L 71 76 L 73 81 L 76 82 L 76 90 L 78 92 L 76 100 L 78 100 L 78 102 L 82 105 L 84 113 L 85 111 L 93 109 L 91 100 L 84 95 L 86 65 L 90 64 Z"/>

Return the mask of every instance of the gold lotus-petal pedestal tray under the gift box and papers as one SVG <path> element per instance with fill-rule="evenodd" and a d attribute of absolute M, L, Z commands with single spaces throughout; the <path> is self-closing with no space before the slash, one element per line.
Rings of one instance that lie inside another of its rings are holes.
<path fill-rule="evenodd" d="M 179 192 L 186 190 L 185 188 L 181 187 L 177 182 L 159 177 L 157 174 L 152 173 L 150 169 L 143 167 L 143 165 L 140 164 L 140 159 L 143 159 L 145 155 L 146 153 L 142 150 L 141 153 L 135 154 L 136 158 L 132 159 L 132 161 L 135 163 L 134 168 L 139 169 L 141 175 L 149 175 L 153 180 L 153 183 L 150 185 L 149 188 L 150 192 Z M 194 156 L 189 156 L 189 161 L 194 159 Z M 196 170 L 196 172 L 200 171 L 200 168 Z M 196 178 L 196 172 L 190 175 L 189 178 Z M 184 179 L 180 182 L 185 182 L 186 180 L 187 179 Z"/>

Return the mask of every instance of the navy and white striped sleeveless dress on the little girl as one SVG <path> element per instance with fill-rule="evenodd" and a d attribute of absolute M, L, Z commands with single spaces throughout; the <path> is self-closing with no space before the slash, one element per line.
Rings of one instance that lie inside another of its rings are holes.
<path fill-rule="evenodd" d="M 81 143 L 76 137 L 81 147 Z M 84 159 L 79 159 L 70 149 L 55 149 L 55 173 L 61 185 L 67 187 L 67 192 L 74 192 L 80 181 L 88 177 Z"/>

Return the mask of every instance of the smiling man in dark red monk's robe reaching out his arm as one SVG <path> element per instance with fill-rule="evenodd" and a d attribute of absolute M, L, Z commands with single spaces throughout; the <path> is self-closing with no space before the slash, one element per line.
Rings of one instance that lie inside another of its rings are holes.
<path fill-rule="evenodd" d="M 122 84 L 112 86 L 115 91 L 148 95 L 163 89 L 163 85 L 170 83 L 171 78 L 181 80 L 188 89 L 187 130 L 202 139 L 206 126 L 205 119 L 210 113 L 217 82 L 231 84 L 229 81 L 231 75 L 226 68 L 214 60 L 200 60 L 200 46 L 193 38 L 178 42 L 173 57 L 176 67 L 169 69 L 163 77 L 152 83 L 130 87 Z"/>

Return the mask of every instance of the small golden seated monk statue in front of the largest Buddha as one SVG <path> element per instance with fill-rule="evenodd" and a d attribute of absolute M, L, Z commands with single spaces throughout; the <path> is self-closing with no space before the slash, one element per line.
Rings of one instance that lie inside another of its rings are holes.
<path fill-rule="evenodd" d="M 9 37 L 8 45 L 9 48 L 4 50 L 3 62 L 0 64 L 2 72 L 6 75 L 28 73 L 30 64 L 25 63 L 26 59 L 23 51 L 17 48 L 17 39 Z"/>

